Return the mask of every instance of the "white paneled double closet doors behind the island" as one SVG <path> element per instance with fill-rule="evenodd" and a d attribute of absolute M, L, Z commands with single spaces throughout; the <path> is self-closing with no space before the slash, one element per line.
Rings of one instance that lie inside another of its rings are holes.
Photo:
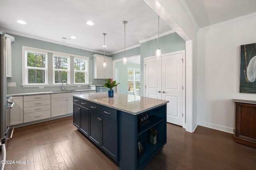
<path fill-rule="evenodd" d="M 149 57 L 145 65 L 145 96 L 169 100 L 167 122 L 183 126 L 183 58 L 185 51 L 162 55 L 161 59 Z"/>

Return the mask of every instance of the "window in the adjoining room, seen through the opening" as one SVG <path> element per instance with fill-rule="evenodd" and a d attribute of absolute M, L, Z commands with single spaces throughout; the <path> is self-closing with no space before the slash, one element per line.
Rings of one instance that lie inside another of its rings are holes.
<path fill-rule="evenodd" d="M 128 68 L 128 92 L 140 88 L 140 69 Z"/>

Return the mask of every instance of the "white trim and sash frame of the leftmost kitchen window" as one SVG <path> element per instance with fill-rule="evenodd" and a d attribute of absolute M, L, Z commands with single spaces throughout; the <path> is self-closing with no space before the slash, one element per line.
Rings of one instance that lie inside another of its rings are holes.
<path fill-rule="evenodd" d="M 27 55 L 26 55 L 26 51 L 28 52 L 32 52 L 32 53 L 41 53 L 41 54 L 45 54 L 46 55 L 46 59 L 45 59 L 45 68 L 36 68 L 36 67 L 28 67 L 27 66 Z M 25 47 L 22 46 L 22 86 L 26 85 L 26 86 L 45 86 L 48 84 L 48 52 L 43 50 L 43 49 L 36 49 L 36 48 L 32 48 L 32 47 Z M 45 70 L 45 75 L 44 75 L 44 83 L 28 83 L 28 69 L 32 68 L 32 69 L 37 69 L 37 70 Z M 25 76 L 24 76 L 25 75 Z"/>

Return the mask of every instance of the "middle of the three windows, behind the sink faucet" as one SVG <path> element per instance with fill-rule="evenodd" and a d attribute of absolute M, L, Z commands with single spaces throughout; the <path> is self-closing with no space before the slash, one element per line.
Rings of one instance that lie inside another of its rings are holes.
<path fill-rule="evenodd" d="M 62 83 L 63 80 L 69 80 L 69 56 L 60 54 L 53 55 L 53 73 L 54 83 Z"/>

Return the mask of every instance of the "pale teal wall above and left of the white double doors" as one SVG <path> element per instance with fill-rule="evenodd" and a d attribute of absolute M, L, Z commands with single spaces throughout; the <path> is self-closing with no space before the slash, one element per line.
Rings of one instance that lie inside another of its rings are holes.
<path fill-rule="evenodd" d="M 157 48 L 158 39 L 156 38 L 145 43 L 141 43 L 140 47 L 130 49 L 126 52 L 126 57 L 140 55 L 140 94 L 142 96 L 144 95 L 144 58 L 155 56 Z M 185 50 L 186 42 L 177 33 L 171 33 L 159 38 L 159 48 L 162 50 L 162 54 L 172 53 L 175 51 Z M 140 53 L 138 53 L 138 49 L 140 49 Z M 122 59 L 124 57 L 124 52 L 116 53 L 111 55 L 111 57 L 113 57 L 113 60 Z"/>

